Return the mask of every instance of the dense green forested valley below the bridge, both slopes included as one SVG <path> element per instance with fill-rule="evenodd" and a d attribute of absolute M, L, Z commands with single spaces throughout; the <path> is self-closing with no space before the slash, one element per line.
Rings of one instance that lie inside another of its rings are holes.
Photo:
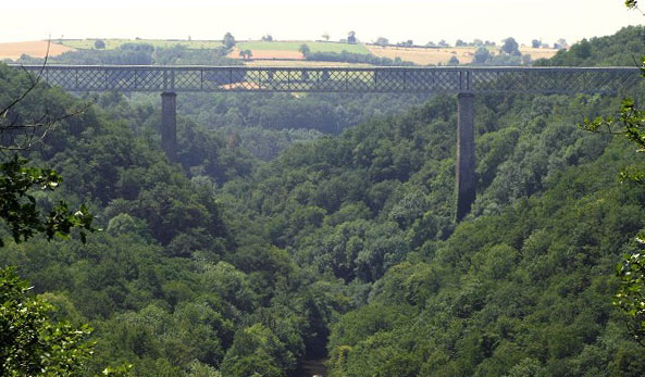
<path fill-rule="evenodd" d="M 645 28 L 542 65 L 630 65 Z M 645 80 L 644 80 L 645 81 Z M 0 101 L 29 84 L 0 65 Z M 630 95 L 642 99 L 643 83 Z M 178 162 L 159 97 L 39 86 L 25 118 L 66 117 L 24 152 L 57 171 L 36 204 L 86 203 L 101 230 L 15 243 L 0 266 L 89 324 L 79 375 L 642 376 L 645 348 L 612 305 L 640 250 L 645 160 L 576 126 L 621 97 L 476 97 L 477 199 L 455 223 L 448 96 L 178 97 Z"/>

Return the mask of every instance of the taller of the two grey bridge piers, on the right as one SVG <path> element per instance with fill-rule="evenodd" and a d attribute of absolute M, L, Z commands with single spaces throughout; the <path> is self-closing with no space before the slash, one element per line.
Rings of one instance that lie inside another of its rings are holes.
<path fill-rule="evenodd" d="M 474 95 L 457 96 L 457 221 L 470 212 L 475 200 Z"/>

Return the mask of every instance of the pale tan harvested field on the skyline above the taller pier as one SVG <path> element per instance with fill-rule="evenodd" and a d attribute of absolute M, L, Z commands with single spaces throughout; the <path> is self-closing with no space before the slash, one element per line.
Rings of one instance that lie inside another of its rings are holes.
<path fill-rule="evenodd" d="M 365 46 L 370 52 L 381 58 L 400 58 L 419 65 L 446 64 L 451 56 L 456 56 L 461 64 L 472 62 L 475 47 L 448 47 L 448 48 L 409 48 L 409 47 L 381 47 L 375 45 Z M 492 53 L 497 53 L 498 48 L 492 48 Z M 550 58 L 556 54 L 554 49 L 533 49 L 521 47 L 522 54 L 529 53 L 533 60 L 539 58 Z"/>

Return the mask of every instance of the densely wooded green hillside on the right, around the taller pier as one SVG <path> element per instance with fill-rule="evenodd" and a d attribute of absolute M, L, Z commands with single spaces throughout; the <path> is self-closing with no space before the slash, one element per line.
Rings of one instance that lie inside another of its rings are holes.
<path fill-rule="evenodd" d="M 481 98 L 479 199 L 456 228 L 448 99 L 295 147 L 223 198 L 245 229 L 351 287 L 361 307 L 332 325 L 334 376 L 636 376 L 644 352 L 611 306 L 644 225 L 642 189 L 616 173 L 636 154 L 575 126 L 613 109 Z"/>

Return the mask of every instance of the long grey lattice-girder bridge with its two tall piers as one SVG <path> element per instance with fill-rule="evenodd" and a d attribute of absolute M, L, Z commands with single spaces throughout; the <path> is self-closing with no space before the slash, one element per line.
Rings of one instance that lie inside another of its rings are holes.
<path fill-rule="evenodd" d="M 70 91 L 161 92 L 161 144 L 176 156 L 177 92 L 392 92 L 458 95 L 457 221 L 475 199 L 474 95 L 617 95 L 637 67 L 248 67 L 14 65 Z"/>

